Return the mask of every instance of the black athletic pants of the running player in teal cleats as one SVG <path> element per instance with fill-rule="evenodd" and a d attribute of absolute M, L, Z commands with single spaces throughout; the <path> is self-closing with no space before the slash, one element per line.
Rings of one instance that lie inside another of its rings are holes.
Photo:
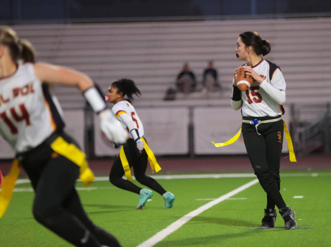
<path fill-rule="evenodd" d="M 129 163 L 130 168 L 133 167 L 133 172 L 136 180 L 155 190 L 160 195 L 166 193 L 166 190 L 152 177 L 145 175 L 146 168 L 147 168 L 147 160 L 148 156 L 145 149 L 139 153 L 139 150 L 136 146 L 136 142 L 132 139 L 128 140 L 124 145 L 124 153 L 126 159 Z M 139 195 L 141 188 L 132 183 L 129 180 L 123 179 L 122 176 L 124 175 L 124 169 L 122 166 L 122 162 L 119 157 L 117 157 L 114 161 L 112 169 L 109 173 L 109 181 L 114 184 L 116 187 L 125 189 Z"/>

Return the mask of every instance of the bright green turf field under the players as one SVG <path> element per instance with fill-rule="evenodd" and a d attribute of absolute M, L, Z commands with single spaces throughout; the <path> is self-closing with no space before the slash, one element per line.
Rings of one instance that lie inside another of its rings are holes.
<path fill-rule="evenodd" d="M 261 229 L 266 195 L 259 183 L 195 216 L 157 243 L 166 246 L 331 246 L 331 172 L 282 173 L 281 193 L 297 213 L 298 228 L 285 230 L 280 215 L 274 229 Z M 95 181 L 91 190 L 79 190 L 89 217 L 113 233 L 123 246 L 138 246 L 208 200 L 218 198 L 254 177 L 158 179 L 176 201 L 163 209 L 163 198 L 154 192 L 152 201 L 136 210 L 137 195 L 120 190 L 108 181 Z M 77 182 L 76 187 L 83 187 Z M 16 186 L 9 209 L 0 219 L 0 246 L 70 246 L 39 225 L 31 214 L 30 184 Z M 303 196 L 303 198 L 293 198 Z M 246 198 L 237 199 L 233 198 Z"/>

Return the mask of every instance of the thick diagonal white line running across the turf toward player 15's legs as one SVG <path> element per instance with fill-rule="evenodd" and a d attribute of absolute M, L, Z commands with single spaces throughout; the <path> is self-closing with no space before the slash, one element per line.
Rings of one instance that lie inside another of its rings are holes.
<path fill-rule="evenodd" d="M 218 197 L 217 199 L 201 206 L 200 208 L 188 213 L 187 215 L 183 216 L 179 220 L 173 222 L 172 224 L 170 224 L 168 227 L 166 227 L 162 231 L 156 233 L 154 236 L 147 239 L 145 242 L 139 244 L 137 247 L 151 247 L 151 246 L 154 246 L 155 244 L 157 244 L 158 242 L 160 242 L 161 240 L 166 238 L 166 236 L 168 236 L 169 234 L 171 234 L 172 232 L 174 232 L 175 230 L 180 228 L 182 225 L 184 225 L 186 222 L 191 220 L 193 217 L 201 214 L 202 212 L 204 212 L 204 211 L 210 209 L 211 207 L 213 207 L 214 205 L 230 198 L 231 196 L 233 196 L 233 195 L 235 195 L 235 194 L 251 187 L 252 185 L 254 185 L 258 182 L 259 182 L 258 179 L 254 179 L 254 180 L 240 186 L 239 188 L 236 188 L 236 189 L 226 193 L 225 195 L 222 195 L 222 196 Z"/>

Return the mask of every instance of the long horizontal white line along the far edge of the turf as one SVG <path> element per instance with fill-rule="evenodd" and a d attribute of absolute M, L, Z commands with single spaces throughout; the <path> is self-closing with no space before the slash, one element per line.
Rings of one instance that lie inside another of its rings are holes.
<path fill-rule="evenodd" d="M 316 177 L 331 176 L 331 173 L 284 173 L 281 177 Z M 152 175 L 154 179 L 186 179 L 186 178 L 225 178 L 225 177 L 256 177 L 253 173 L 221 173 L 221 174 L 183 174 L 183 175 Z M 125 178 L 125 177 L 124 177 Z M 132 176 L 132 179 L 135 179 Z M 94 181 L 108 181 L 109 177 L 96 177 Z M 78 179 L 78 181 L 80 181 Z M 30 183 L 29 179 L 17 179 L 16 184 Z"/>

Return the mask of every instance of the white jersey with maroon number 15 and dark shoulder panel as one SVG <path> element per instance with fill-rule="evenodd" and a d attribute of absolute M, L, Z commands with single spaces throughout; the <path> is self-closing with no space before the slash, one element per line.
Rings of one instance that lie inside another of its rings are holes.
<path fill-rule="evenodd" d="M 252 67 L 267 83 L 270 83 L 278 90 L 285 91 L 286 83 L 280 68 L 265 59 L 262 59 L 259 64 Z M 243 101 L 241 113 L 244 117 L 276 117 L 284 114 L 283 106 L 275 102 L 262 88 L 260 83 L 254 81 L 252 86 L 241 92 Z"/>

